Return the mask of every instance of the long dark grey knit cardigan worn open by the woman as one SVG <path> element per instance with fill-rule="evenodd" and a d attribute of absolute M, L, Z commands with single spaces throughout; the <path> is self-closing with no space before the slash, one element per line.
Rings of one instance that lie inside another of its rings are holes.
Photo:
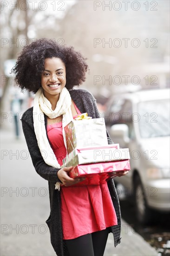
<path fill-rule="evenodd" d="M 80 110 L 81 113 L 87 112 L 89 116 L 92 118 L 100 117 L 98 113 L 98 109 L 96 106 L 96 101 L 92 94 L 90 94 L 86 90 L 78 89 L 78 90 L 70 90 L 70 94 L 72 100 L 75 102 L 76 106 Z M 50 229 L 51 234 L 51 243 L 52 246 L 58 256 L 69 256 L 67 251 L 67 247 L 65 245 L 64 240 L 62 239 L 62 225 L 61 225 L 61 213 L 60 213 L 60 192 L 59 190 L 54 189 L 54 184 L 56 182 L 60 182 L 57 172 L 59 169 L 49 166 L 44 161 L 38 144 L 37 139 L 34 133 L 33 128 L 33 108 L 29 108 L 22 115 L 22 128 L 26 138 L 27 147 L 29 149 L 33 166 L 36 172 L 48 181 L 49 185 L 49 195 L 50 195 L 50 216 L 47 219 L 46 223 Z M 45 115 L 45 126 L 47 133 L 47 116 Z M 109 135 L 108 143 L 112 144 Z M 115 247 L 120 243 L 120 229 L 121 229 L 121 216 L 120 216 L 120 207 L 118 202 L 118 195 L 115 189 L 115 185 L 113 179 L 111 179 L 108 183 L 108 188 L 110 191 L 111 199 L 117 214 L 118 225 L 112 226 L 111 231 L 114 235 L 114 245 Z"/>

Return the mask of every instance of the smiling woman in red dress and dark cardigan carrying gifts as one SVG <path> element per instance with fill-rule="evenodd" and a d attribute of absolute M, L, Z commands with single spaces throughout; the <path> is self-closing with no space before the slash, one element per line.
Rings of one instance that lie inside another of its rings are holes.
<path fill-rule="evenodd" d="M 68 176 L 72 167 L 60 168 L 66 156 L 65 125 L 80 113 L 99 117 L 92 94 L 72 89 L 85 81 L 87 69 L 85 58 L 73 47 L 47 39 L 25 47 L 13 68 L 20 88 L 35 93 L 33 108 L 21 121 L 34 168 L 49 183 L 51 212 L 46 223 L 58 256 L 103 256 L 110 232 L 115 246 L 120 243 L 121 216 L 113 180 L 70 187 L 82 179 Z"/>

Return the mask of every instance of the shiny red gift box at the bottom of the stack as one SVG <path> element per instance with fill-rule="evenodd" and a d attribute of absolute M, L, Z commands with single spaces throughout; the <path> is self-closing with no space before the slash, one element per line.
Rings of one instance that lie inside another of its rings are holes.
<path fill-rule="evenodd" d="M 70 187 L 102 184 L 105 183 L 105 181 L 115 177 L 117 172 L 127 171 L 130 169 L 131 167 L 129 160 L 77 165 L 72 168 L 68 175 L 73 179 L 85 177 L 85 180 Z"/>

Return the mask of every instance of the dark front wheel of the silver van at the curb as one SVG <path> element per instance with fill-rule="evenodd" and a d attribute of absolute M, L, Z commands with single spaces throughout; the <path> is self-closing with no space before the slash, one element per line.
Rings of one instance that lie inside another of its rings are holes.
<path fill-rule="evenodd" d="M 153 222 L 152 210 L 147 205 L 144 188 L 138 175 L 134 180 L 134 201 L 137 220 L 143 224 Z"/>

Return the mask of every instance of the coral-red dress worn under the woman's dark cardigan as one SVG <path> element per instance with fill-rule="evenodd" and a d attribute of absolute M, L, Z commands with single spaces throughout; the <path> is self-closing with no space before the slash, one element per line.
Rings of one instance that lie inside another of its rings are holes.
<path fill-rule="evenodd" d="M 81 114 L 75 103 L 74 106 L 78 115 Z M 47 125 L 47 133 L 52 150 L 62 165 L 66 156 L 62 122 Z M 96 186 L 60 188 L 63 239 L 73 239 L 118 224 L 107 182 Z"/>

